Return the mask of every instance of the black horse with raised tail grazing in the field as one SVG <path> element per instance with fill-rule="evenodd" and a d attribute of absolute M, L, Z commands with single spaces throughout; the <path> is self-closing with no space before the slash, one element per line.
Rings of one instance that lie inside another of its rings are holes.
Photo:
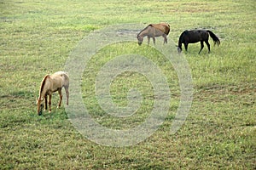
<path fill-rule="evenodd" d="M 202 48 L 204 48 L 204 42 L 206 42 L 207 47 L 208 47 L 208 53 L 210 53 L 210 43 L 208 42 L 209 35 L 212 37 L 214 45 L 216 43 L 218 45 L 220 44 L 218 37 L 215 34 L 213 34 L 212 31 L 209 31 L 209 30 L 190 30 L 190 31 L 186 30 L 186 31 L 183 31 L 183 33 L 180 35 L 179 40 L 178 40 L 177 51 L 179 53 L 181 53 L 182 43 L 184 44 L 185 49 L 187 51 L 189 43 L 201 42 L 201 49 L 199 51 L 199 54 L 200 54 Z"/>

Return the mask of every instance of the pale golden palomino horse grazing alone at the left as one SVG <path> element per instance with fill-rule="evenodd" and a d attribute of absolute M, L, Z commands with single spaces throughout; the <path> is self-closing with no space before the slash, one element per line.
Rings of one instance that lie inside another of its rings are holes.
<path fill-rule="evenodd" d="M 38 115 L 42 114 L 43 101 L 45 99 L 44 109 L 47 110 L 47 96 L 49 95 L 49 113 L 51 112 L 51 95 L 58 91 L 60 94 L 60 102 L 58 108 L 61 107 L 62 94 L 61 89 L 64 87 L 67 95 L 67 105 L 68 105 L 68 86 L 69 86 L 69 77 L 64 71 L 55 72 L 53 75 L 46 75 L 41 82 L 41 87 L 39 90 L 39 97 L 37 99 L 38 104 Z"/>

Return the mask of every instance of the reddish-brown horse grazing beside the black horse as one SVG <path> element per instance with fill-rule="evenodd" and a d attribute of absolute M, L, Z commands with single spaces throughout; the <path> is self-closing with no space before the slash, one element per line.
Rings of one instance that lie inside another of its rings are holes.
<path fill-rule="evenodd" d="M 146 28 L 143 29 L 143 31 L 140 31 L 137 34 L 137 40 L 138 44 L 142 45 L 143 43 L 143 37 L 148 37 L 148 44 L 150 41 L 150 37 L 153 38 L 153 42 L 155 44 L 155 37 L 164 37 L 164 43 L 167 43 L 167 35 L 169 34 L 170 26 L 166 23 L 160 23 L 160 24 L 150 24 Z"/>

